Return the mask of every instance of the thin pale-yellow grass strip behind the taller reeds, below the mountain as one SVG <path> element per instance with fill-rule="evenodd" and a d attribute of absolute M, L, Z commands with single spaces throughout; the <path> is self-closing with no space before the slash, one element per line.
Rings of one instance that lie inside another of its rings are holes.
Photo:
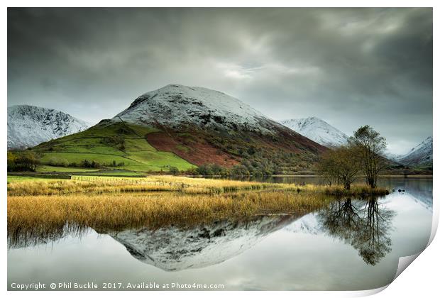
<path fill-rule="evenodd" d="M 370 189 L 363 185 L 354 185 L 350 191 L 340 186 L 297 185 L 282 183 L 243 182 L 236 180 L 212 180 L 175 176 L 138 177 L 97 177 L 72 176 L 72 180 L 25 180 L 8 184 L 10 196 L 35 196 L 54 194 L 106 194 L 121 192 L 180 192 L 185 194 L 221 194 L 238 191 L 260 191 L 282 189 L 292 192 L 323 193 L 346 196 L 386 194 L 383 188 Z"/>

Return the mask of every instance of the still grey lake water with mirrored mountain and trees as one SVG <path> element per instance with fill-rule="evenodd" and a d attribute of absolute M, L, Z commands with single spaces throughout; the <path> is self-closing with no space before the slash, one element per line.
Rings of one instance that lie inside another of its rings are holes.
<path fill-rule="evenodd" d="M 315 177 L 271 179 L 319 183 Z M 145 289 L 150 282 L 229 290 L 382 287 L 392 281 L 400 257 L 427 245 L 432 179 L 386 178 L 379 184 L 396 191 L 378 199 L 336 200 L 300 217 L 258 216 L 154 231 L 88 228 L 46 243 L 15 243 L 8 249 L 8 287 L 31 282 L 94 282 L 98 289 L 103 283 Z"/>

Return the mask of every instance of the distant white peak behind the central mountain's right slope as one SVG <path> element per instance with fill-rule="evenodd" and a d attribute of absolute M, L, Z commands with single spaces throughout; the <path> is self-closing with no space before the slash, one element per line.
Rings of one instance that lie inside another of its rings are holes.
<path fill-rule="evenodd" d="M 290 119 L 281 124 L 326 147 L 346 145 L 348 136 L 317 117 Z"/>

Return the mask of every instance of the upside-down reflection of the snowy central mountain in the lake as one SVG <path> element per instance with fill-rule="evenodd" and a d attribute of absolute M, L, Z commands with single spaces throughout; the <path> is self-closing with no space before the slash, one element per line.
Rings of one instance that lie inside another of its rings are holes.
<path fill-rule="evenodd" d="M 180 271 L 229 260 L 294 219 L 260 216 L 252 221 L 218 221 L 195 228 L 140 228 L 107 233 L 143 263 L 165 271 Z"/>

